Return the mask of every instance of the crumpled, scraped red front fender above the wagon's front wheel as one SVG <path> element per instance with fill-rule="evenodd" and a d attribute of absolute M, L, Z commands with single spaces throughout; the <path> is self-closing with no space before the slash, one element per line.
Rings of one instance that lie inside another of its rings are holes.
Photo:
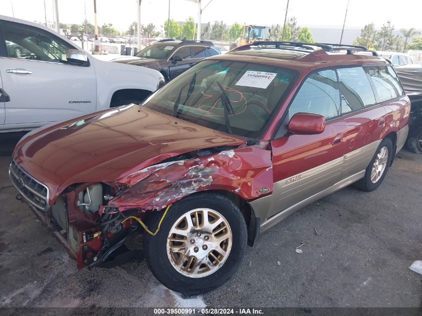
<path fill-rule="evenodd" d="M 195 192 L 215 190 L 242 206 L 273 191 L 271 151 L 256 146 L 153 165 L 116 181 L 128 186 L 108 206 L 161 210 Z M 259 188 L 268 188 L 265 194 Z M 238 198 L 237 198 L 238 197 Z M 245 205 L 242 213 L 250 216 Z"/>

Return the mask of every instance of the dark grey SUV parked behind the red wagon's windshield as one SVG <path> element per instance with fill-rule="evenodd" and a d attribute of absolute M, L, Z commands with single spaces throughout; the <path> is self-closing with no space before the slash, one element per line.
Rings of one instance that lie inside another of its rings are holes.
<path fill-rule="evenodd" d="M 167 82 L 202 59 L 215 55 L 220 55 L 220 51 L 210 41 L 162 39 L 140 50 L 135 56 L 111 61 L 157 69 Z"/>

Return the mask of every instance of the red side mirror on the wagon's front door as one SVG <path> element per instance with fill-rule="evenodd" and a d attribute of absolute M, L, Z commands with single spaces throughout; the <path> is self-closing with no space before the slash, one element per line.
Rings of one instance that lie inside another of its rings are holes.
<path fill-rule="evenodd" d="M 299 135 L 321 134 L 325 130 L 325 117 L 311 113 L 296 113 L 287 124 L 286 130 Z"/>

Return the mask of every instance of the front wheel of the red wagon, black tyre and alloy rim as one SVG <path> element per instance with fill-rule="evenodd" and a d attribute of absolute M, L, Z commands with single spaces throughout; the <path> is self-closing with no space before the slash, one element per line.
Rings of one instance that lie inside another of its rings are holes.
<path fill-rule="evenodd" d="M 154 211 L 148 227 L 157 227 Z M 199 193 L 173 204 L 157 235 L 144 233 L 146 262 L 167 288 L 198 295 L 218 288 L 237 271 L 246 250 L 245 219 L 233 201 Z"/>

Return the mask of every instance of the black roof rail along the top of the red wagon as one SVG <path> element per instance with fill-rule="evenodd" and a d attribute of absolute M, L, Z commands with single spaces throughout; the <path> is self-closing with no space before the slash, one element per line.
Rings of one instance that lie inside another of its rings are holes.
<path fill-rule="evenodd" d="M 352 54 L 352 51 L 368 51 L 371 52 L 374 56 L 379 56 L 378 53 L 374 50 L 370 50 L 365 46 L 359 45 L 344 45 L 344 44 L 330 44 L 330 43 L 305 43 L 305 42 L 290 42 L 290 41 L 255 41 L 250 46 L 258 45 L 275 45 L 276 48 L 285 48 L 285 47 L 299 47 L 303 49 L 315 50 L 315 47 L 319 47 L 325 51 L 338 51 L 338 50 L 347 50 L 347 54 Z M 284 47 L 282 47 L 284 46 Z M 265 48 L 265 47 L 263 47 Z"/>

